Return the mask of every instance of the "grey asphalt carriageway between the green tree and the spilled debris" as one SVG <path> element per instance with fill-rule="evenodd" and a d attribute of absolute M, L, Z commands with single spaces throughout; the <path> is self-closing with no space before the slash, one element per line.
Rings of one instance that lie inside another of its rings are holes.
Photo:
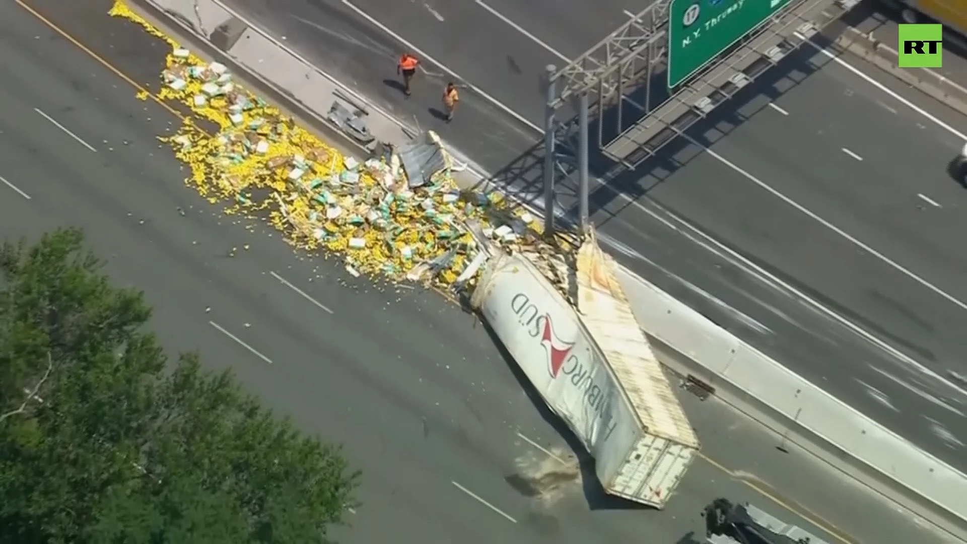
<path fill-rule="evenodd" d="M 108 4 L 32 4 L 104 63 L 0 6 L 0 232 L 83 227 L 114 279 L 145 290 L 166 348 L 200 349 L 210 368 L 233 369 L 269 406 L 343 443 L 364 483 L 340 541 L 692 544 L 718 497 L 831 544 L 943 541 L 681 390 L 708 457 L 665 511 L 602 499 L 591 484 L 526 497 L 514 476 L 569 438 L 483 327 L 433 293 L 354 282 L 335 259 L 294 255 L 257 220 L 222 216 L 186 188 L 156 140 L 178 118 L 125 80 L 157 80 L 164 48 L 103 15 Z"/>

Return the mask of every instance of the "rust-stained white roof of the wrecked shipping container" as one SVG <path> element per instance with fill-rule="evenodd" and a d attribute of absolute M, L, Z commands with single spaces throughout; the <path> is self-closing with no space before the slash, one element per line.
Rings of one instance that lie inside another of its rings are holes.
<path fill-rule="evenodd" d="M 642 428 L 651 435 L 698 448 L 689 419 L 631 313 L 616 266 L 601 251 L 594 235 L 582 244 L 577 252 L 581 322 L 604 353 Z"/>

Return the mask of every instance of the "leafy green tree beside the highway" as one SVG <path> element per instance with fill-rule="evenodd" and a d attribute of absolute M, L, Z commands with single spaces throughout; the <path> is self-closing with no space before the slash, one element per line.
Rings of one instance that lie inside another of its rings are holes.
<path fill-rule="evenodd" d="M 0 541 L 328 542 L 358 473 L 196 354 L 82 233 L 0 247 Z"/>

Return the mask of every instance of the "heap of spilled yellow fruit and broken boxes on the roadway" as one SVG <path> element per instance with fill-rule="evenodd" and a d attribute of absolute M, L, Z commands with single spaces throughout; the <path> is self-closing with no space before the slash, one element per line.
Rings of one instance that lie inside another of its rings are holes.
<path fill-rule="evenodd" d="M 486 258 L 482 244 L 496 244 L 542 262 L 567 291 L 567 266 L 555 257 L 567 242 L 544 242 L 541 222 L 498 191 L 458 188 L 453 159 L 435 133 L 401 148 L 382 143 L 359 161 L 250 93 L 224 65 L 178 45 L 123 1 L 110 15 L 171 45 L 157 98 L 187 106 L 193 117 L 219 129 L 209 134 L 186 116 L 174 136 L 159 139 L 190 166 L 186 183 L 210 203 L 226 204 L 225 213 L 262 216 L 291 245 L 340 257 L 353 276 L 471 287 Z"/>

